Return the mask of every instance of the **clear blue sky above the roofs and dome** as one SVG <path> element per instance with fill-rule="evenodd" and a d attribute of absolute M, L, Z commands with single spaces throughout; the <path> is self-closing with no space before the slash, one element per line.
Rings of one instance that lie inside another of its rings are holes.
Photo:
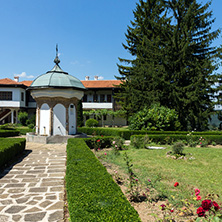
<path fill-rule="evenodd" d="M 118 57 L 130 57 L 122 43 L 138 0 L 0 2 L 0 78 L 33 80 L 51 70 L 57 43 L 61 68 L 80 80 L 115 79 Z M 222 1 L 213 0 L 211 9 L 213 30 L 221 28 Z"/>

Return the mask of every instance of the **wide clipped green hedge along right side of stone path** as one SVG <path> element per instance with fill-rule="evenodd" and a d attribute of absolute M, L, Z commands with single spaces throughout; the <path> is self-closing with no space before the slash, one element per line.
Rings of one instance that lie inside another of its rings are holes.
<path fill-rule="evenodd" d="M 141 221 L 83 139 L 67 144 L 66 189 L 71 221 Z"/>

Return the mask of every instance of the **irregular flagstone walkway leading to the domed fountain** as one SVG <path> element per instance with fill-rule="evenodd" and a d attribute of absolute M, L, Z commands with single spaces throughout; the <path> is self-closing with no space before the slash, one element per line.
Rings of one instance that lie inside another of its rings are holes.
<path fill-rule="evenodd" d="M 26 157 L 0 173 L 0 221 L 63 221 L 66 144 L 28 142 Z"/>

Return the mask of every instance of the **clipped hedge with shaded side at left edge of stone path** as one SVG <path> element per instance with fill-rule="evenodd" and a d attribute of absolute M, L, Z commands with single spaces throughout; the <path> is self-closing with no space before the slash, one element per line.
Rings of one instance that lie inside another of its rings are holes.
<path fill-rule="evenodd" d="M 24 138 L 0 138 L 0 143 L 0 167 L 2 167 L 24 151 L 26 140 Z"/>

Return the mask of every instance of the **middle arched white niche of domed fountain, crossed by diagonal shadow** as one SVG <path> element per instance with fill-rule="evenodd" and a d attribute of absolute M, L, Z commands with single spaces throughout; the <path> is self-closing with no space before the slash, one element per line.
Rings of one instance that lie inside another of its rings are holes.
<path fill-rule="evenodd" d="M 66 108 L 62 104 L 53 108 L 53 135 L 66 135 Z"/>

